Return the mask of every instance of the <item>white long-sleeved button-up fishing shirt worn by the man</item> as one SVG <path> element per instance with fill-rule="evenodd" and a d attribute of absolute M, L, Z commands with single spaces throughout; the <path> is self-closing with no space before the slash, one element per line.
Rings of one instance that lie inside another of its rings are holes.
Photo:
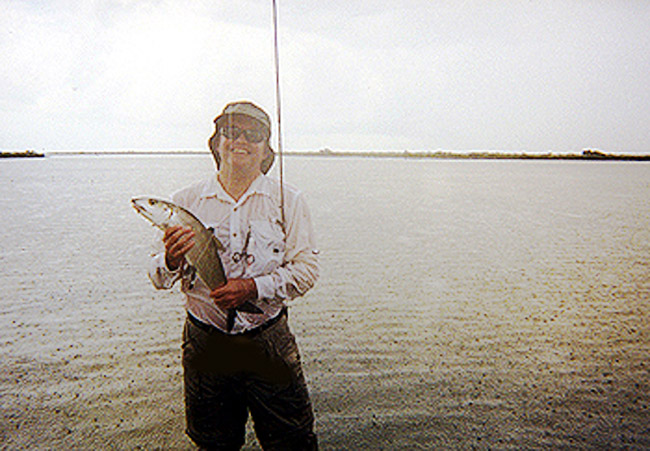
<path fill-rule="evenodd" d="M 307 204 L 297 189 L 284 185 L 284 229 L 280 184 L 266 175 L 255 179 L 238 201 L 223 189 L 216 174 L 176 192 L 172 201 L 213 229 L 225 247 L 219 254 L 227 278 L 252 278 L 255 282 L 258 298 L 253 303 L 264 313 L 238 311 L 230 333 L 264 324 L 280 313 L 284 300 L 303 295 L 316 282 L 318 251 Z M 203 281 L 187 268 L 167 268 L 161 237 L 159 234 L 149 268 L 154 286 L 169 289 L 181 279 L 187 311 L 226 331 L 227 312 L 210 298 Z M 244 258 L 238 258 L 242 254 Z"/>

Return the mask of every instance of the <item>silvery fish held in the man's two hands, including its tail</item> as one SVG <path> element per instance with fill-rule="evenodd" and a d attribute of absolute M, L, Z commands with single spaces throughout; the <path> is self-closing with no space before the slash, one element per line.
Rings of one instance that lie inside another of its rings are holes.
<path fill-rule="evenodd" d="M 169 227 L 189 227 L 194 232 L 194 246 L 187 251 L 185 259 L 196 269 L 199 278 L 214 290 L 227 282 L 223 270 L 219 250 L 224 247 L 211 230 L 192 213 L 180 205 L 153 197 L 134 197 L 131 199 L 133 208 L 148 219 L 153 225 L 165 231 Z M 262 310 L 250 302 L 244 302 L 235 309 L 228 310 L 228 330 L 232 329 L 235 321 L 235 310 L 247 313 L 263 313 Z"/>

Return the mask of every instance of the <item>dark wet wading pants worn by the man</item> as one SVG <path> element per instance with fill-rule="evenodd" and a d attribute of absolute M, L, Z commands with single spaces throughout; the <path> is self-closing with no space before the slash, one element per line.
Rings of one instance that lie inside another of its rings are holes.
<path fill-rule="evenodd" d="M 183 331 L 187 434 L 204 449 L 237 450 L 250 412 L 265 450 L 314 450 L 312 413 L 286 312 L 228 335 L 188 317 Z"/>

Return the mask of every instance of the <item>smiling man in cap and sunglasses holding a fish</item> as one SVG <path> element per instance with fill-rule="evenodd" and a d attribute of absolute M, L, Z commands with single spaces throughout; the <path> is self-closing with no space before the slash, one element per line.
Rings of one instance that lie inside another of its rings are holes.
<path fill-rule="evenodd" d="M 194 213 L 223 244 L 220 256 L 228 282 L 210 291 L 196 277 L 184 257 L 194 245 L 193 232 L 182 227 L 165 232 L 164 250 L 161 246 L 153 256 L 149 270 L 154 286 L 171 288 L 180 279 L 186 295 L 187 434 L 201 448 L 239 449 L 250 412 L 264 449 L 317 449 L 311 403 L 283 303 L 304 294 L 318 277 L 309 211 L 299 191 L 281 190 L 277 180 L 265 175 L 274 153 L 271 122 L 262 109 L 250 102 L 231 103 L 214 122 L 209 146 L 217 173 L 172 200 Z"/>

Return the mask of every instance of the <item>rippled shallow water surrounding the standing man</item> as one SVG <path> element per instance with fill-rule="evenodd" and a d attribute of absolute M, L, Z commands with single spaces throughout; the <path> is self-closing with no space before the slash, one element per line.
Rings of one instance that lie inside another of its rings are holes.
<path fill-rule="evenodd" d="M 129 199 L 208 156 L 0 163 L 0 443 L 193 449 L 182 299 L 150 285 Z M 290 321 L 323 449 L 650 447 L 649 164 L 285 170 L 321 248 Z"/>

